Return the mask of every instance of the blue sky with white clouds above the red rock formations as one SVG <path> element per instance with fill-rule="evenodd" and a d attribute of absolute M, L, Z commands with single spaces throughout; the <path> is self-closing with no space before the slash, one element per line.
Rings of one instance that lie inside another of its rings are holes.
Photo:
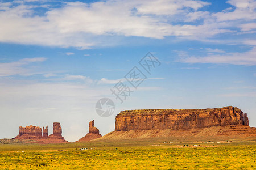
<path fill-rule="evenodd" d="M 73 142 L 93 119 L 105 135 L 126 109 L 233 105 L 256 126 L 255 19 L 251 0 L 0 1 L 0 138 L 61 122 Z M 110 89 L 148 52 L 161 65 L 120 103 Z"/>

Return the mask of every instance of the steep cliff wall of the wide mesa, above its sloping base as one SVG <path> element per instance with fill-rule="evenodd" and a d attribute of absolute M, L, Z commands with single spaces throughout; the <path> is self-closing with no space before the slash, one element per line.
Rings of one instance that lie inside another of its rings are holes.
<path fill-rule="evenodd" d="M 246 125 L 247 114 L 230 107 L 216 109 L 148 109 L 122 111 L 115 118 L 115 131 Z"/>

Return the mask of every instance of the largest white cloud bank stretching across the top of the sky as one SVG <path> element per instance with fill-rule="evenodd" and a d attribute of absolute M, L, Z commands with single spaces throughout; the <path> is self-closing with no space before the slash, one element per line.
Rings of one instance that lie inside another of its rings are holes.
<path fill-rule="evenodd" d="M 0 11 L 0 42 L 86 49 L 117 45 L 110 37 L 116 37 L 115 41 L 123 36 L 203 40 L 234 32 L 226 29 L 230 24 L 217 23 L 209 12 L 197 11 L 208 5 L 208 2 L 191 0 L 65 2 L 38 16 L 32 5 L 10 6 L 8 3 Z M 214 17 L 218 18 L 218 14 Z M 173 23 L 198 19 L 205 22 L 201 25 Z"/>

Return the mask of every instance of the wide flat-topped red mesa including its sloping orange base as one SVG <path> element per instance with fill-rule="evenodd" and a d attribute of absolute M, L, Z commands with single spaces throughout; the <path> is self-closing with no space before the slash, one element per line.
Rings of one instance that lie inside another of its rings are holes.
<path fill-rule="evenodd" d="M 122 111 L 115 131 L 103 138 L 150 138 L 168 136 L 256 136 L 247 114 L 230 107 L 215 109 L 148 109 Z"/>

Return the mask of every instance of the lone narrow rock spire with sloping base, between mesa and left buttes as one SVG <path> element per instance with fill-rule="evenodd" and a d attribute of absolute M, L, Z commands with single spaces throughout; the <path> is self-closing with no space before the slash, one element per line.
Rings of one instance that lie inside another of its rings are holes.
<path fill-rule="evenodd" d="M 79 141 L 76 142 L 85 142 L 85 141 L 91 141 L 93 139 L 97 139 L 102 137 L 100 134 L 100 131 L 98 128 L 94 127 L 94 120 L 89 122 L 89 133 L 85 135 L 85 137 L 82 137 L 79 139 Z"/>

